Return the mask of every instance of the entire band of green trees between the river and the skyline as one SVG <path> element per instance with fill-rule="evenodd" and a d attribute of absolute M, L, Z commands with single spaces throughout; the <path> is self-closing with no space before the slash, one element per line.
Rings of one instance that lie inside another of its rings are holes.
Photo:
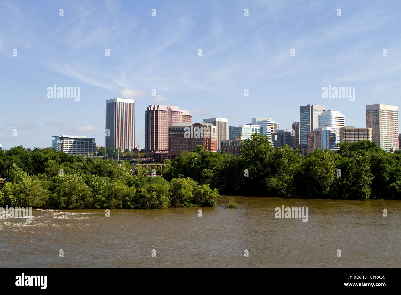
<path fill-rule="evenodd" d="M 331 199 L 401 199 L 401 152 L 370 141 L 339 144 L 337 152 L 303 157 L 290 146 L 271 147 L 266 136 L 245 140 L 242 155 L 196 146 L 162 177 L 133 177 L 113 159 L 52 151 L 0 151 L 0 205 L 45 208 L 167 208 L 215 206 L 220 193 Z M 129 171 L 128 161 L 120 164 Z"/>

